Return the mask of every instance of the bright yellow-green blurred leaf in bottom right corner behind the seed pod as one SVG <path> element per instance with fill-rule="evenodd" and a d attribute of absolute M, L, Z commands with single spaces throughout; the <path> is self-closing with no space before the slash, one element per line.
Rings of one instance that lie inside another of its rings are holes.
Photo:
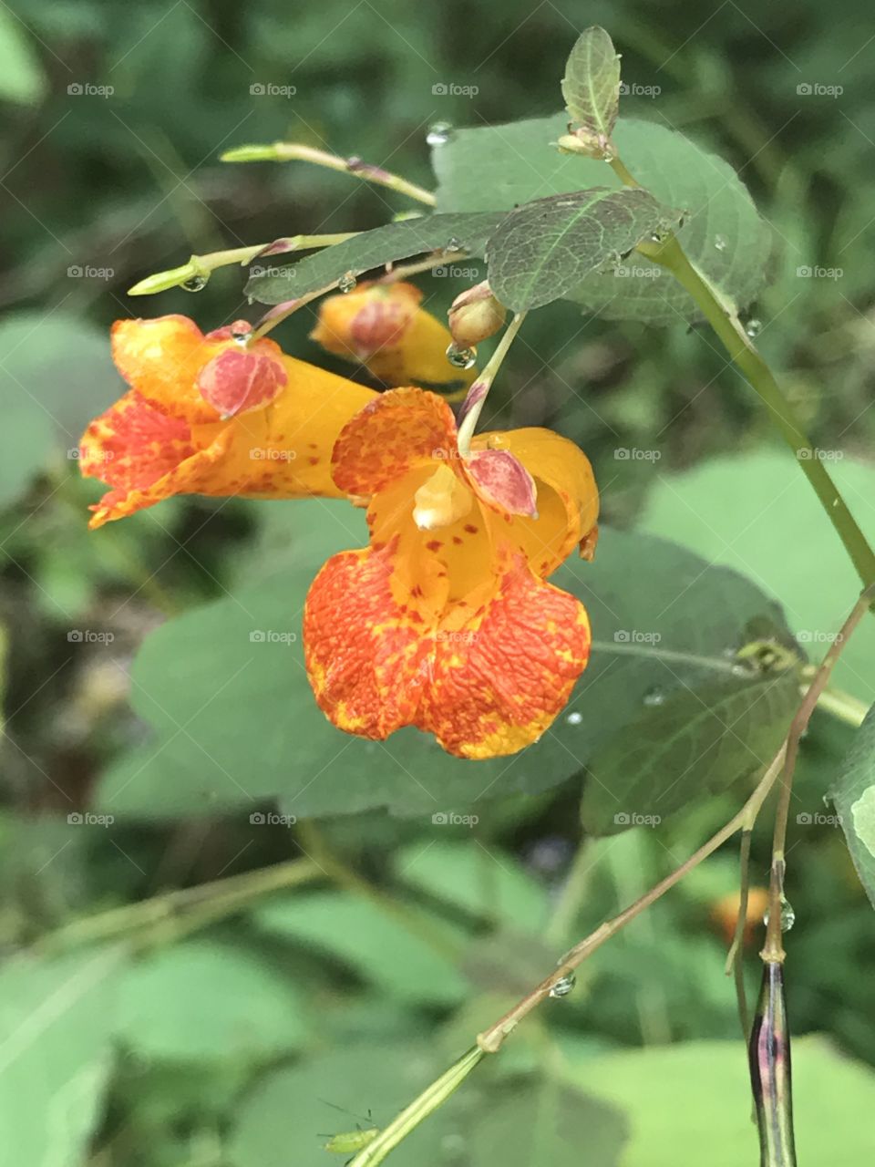
<path fill-rule="evenodd" d="M 573 1082 L 628 1114 L 623 1167 L 738 1167 L 758 1161 L 750 1079 L 740 1041 L 695 1041 L 584 1056 Z M 824 1037 L 793 1040 L 793 1116 L 800 1163 L 862 1163 L 875 1074 Z M 828 1121 L 824 1120 L 828 1116 Z"/>

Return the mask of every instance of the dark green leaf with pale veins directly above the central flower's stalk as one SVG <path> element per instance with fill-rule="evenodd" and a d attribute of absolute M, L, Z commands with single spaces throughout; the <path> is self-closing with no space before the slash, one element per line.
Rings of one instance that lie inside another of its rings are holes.
<path fill-rule="evenodd" d="M 594 187 L 538 198 L 511 211 L 490 238 L 490 287 L 513 312 L 540 308 L 679 219 L 646 190 Z"/>

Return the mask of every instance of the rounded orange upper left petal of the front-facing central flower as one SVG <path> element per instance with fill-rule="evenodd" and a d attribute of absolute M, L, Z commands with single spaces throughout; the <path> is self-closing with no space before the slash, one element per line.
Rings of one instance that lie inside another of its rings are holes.
<path fill-rule="evenodd" d="M 436 393 L 382 393 L 343 429 L 334 481 L 348 495 L 373 495 L 425 462 L 457 460 L 453 411 Z"/>

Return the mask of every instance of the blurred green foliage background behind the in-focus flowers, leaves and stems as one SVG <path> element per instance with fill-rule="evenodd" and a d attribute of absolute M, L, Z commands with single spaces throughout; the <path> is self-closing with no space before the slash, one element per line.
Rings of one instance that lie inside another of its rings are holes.
<path fill-rule="evenodd" d="M 0 1162 L 329 1162 L 320 1132 L 352 1128 L 369 1110 L 387 1121 L 564 948 L 737 806 L 737 794 L 721 796 L 659 831 L 607 840 L 581 840 L 575 782 L 490 803 L 474 829 L 373 812 L 253 830 L 209 809 L 68 822 L 93 804 L 105 767 L 146 741 L 128 705 L 144 636 L 233 591 L 294 538 L 298 513 L 186 498 L 86 532 L 99 488 L 79 481 L 76 447 L 119 394 L 111 322 L 181 312 L 208 329 L 258 312 L 233 268 L 197 296 L 126 289 L 190 252 L 360 230 L 408 209 L 303 165 L 223 166 L 222 149 L 303 141 L 433 186 L 429 125 L 554 112 L 565 58 L 590 23 L 611 33 L 624 78 L 656 91 L 634 90 L 624 112 L 726 158 L 772 225 L 772 281 L 749 316 L 870 523 L 869 6 L 0 7 Z M 476 93 L 440 91 L 450 86 Z M 420 282 L 438 314 L 464 286 Z M 278 337 L 330 364 L 307 338 L 312 322 L 302 312 Z M 716 343 L 700 329 L 586 319 L 570 303 L 538 313 L 524 335 L 502 373 L 499 424 L 573 438 L 595 464 L 608 522 L 750 574 L 810 634 L 817 659 L 816 631 L 836 626 L 853 585 L 842 571 L 839 586 L 825 520 Z M 629 447 L 659 456 L 617 459 Z M 756 499 L 774 503 L 760 519 Z M 870 655 L 842 684 L 870 694 Z M 849 738 L 818 714 L 799 808 L 822 811 Z M 872 909 L 833 825 L 797 829 L 791 843 L 790 1006 L 796 1032 L 822 1035 L 798 1043 L 800 1146 L 806 1162 L 862 1162 L 875 1149 Z M 268 895 L 267 868 L 300 857 L 315 864 L 294 868 L 302 888 Z M 714 920 L 735 869 L 721 853 L 602 950 L 574 993 L 547 1002 L 397 1161 L 658 1167 L 701 1161 L 706 1142 L 713 1165 L 755 1161 Z M 243 881 L 239 903 L 204 890 L 217 879 Z M 178 899 L 150 907 L 168 894 Z"/>

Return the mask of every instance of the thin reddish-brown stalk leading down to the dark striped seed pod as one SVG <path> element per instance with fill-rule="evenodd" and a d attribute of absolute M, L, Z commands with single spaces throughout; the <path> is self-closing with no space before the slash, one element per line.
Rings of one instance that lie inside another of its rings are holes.
<path fill-rule="evenodd" d="M 790 725 L 790 733 L 786 739 L 786 757 L 784 760 L 784 769 L 780 776 L 780 797 L 778 799 L 778 810 L 775 817 L 775 833 L 772 837 L 771 873 L 769 879 L 769 924 L 765 930 L 765 945 L 763 946 L 763 951 L 760 953 L 765 963 L 780 963 L 786 956 L 784 952 L 783 934 L 780 929 L 780 909 L 784 902 L 784 874 L 786 867 L 784 845 L 786 841 L 788 820 L 790 818 L 790 797 L 792 794 L 793 771 L 796 769 L 796 760 L 799 755 L 799 741 L 808 727 L 808 721 L 814 712 L 818 698 L 826 689 L 826 684 L 830 680 L 830 675 L 835 666 L 835 662 L 841 656 L 848 637 L 866 615 L 874 594 L 875 584 L 863 589 L 860 599 L 854 605 L 850 615 L 845 621 L 841 631 L 830 645 L 830 651 L 824 657 L 824 661 L 811 683 L 811 687 L 803 698 L 802 705 L 797 710 Z"/>

